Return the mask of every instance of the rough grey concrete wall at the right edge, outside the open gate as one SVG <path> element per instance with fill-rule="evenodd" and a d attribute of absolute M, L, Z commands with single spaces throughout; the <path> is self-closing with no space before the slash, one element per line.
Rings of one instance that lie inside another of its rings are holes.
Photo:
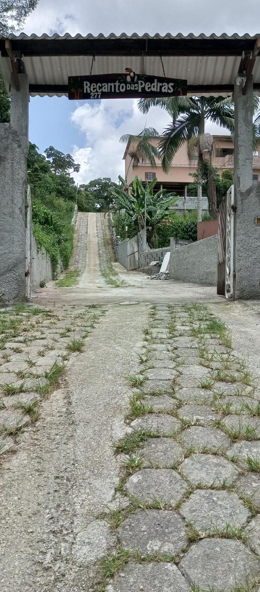
<path fill-rule="evenodd" d="M 236 210 L 236 298 L 260 298 L 260 185 L 245 191 Z"/>

